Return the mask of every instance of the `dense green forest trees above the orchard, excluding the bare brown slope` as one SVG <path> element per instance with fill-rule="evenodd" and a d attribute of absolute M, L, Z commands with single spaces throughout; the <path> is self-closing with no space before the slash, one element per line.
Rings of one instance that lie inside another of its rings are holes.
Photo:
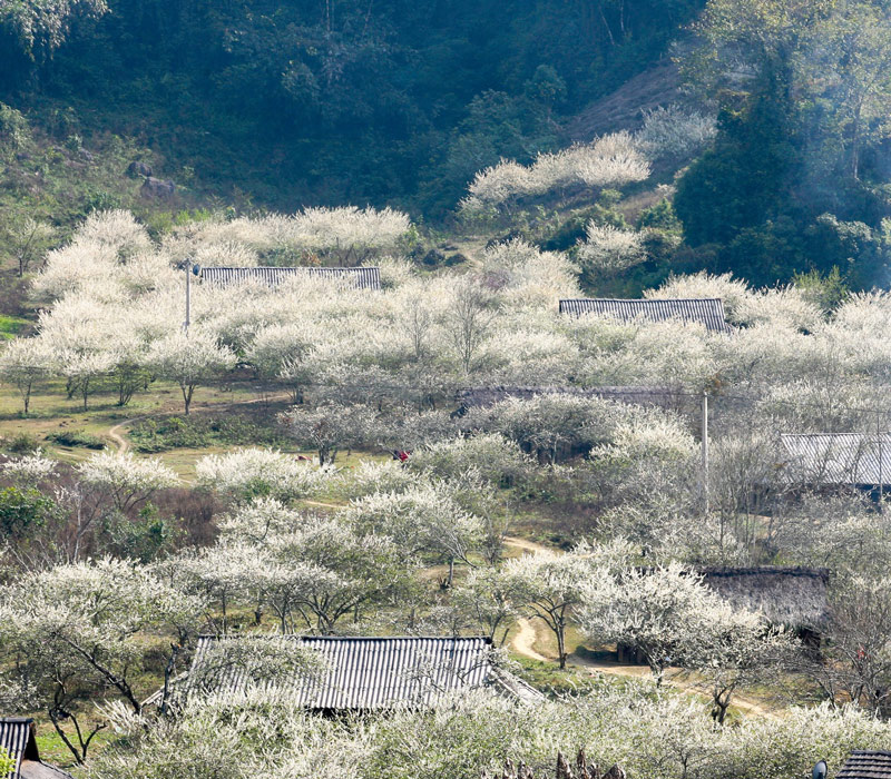
<path fill-rule="evenodd" d="M 574 125 L 586 107 L 675 60 L 679 98 L 718 132 L 693 165 L 657 170 L 677 179 L 675 213 L 657 218 L 685 240 L 654 248 L 650 274 L 883 283 L 887 6 L 712 6 L 7 2 L 0 131 L 7 147 L 33 128 L 90 157 L 131 145 L 195 205 L 392 205 L 442 227 L 478 170 L 590 140 L 603 128 Z M 623 118 L 634 129 L 643 111 Z M 70 216 L 128 205 L 118 188 L 67 191 Z M 531 205 L 557 207 L 540 231 L 571 246 L 562 204 Z"/>

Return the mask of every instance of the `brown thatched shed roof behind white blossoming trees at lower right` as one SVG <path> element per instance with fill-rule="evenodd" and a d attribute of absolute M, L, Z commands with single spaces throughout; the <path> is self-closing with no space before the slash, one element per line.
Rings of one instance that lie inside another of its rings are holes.
<path fill-rule="evenodd" d="M 703 582 L 738 609 L 758 611 L 774 624 L 819 630 L 829 613 L 829 570 L 810 568 L 705 568 Z"/>

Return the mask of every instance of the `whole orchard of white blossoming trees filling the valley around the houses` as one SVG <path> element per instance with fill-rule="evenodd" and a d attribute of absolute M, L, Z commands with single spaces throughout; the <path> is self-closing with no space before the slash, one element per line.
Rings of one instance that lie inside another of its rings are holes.
<path fill-rule="evenodd" d="M 503 225 L 633 186 L 714 131 L 659 109 L 487 168 L 460 210 Z M 780 779 L 891 747 L 891 296 L 698 273 L 644 297 L 719 298 L 728 326 L 560 313 L 659 229 L 594 218 L 568 252 L 506 237 L 431 269 L 392 209 L 160 236 L 95 211 L 33 276 L 0 381 L 19 420 L 114 404 L 130 437 L 0 463 L 0 709 L 121 779 L 474 779 L 579 747 L 631 777 Z M 199 269 L 358 265 L 380 289 Z M 232 387 L 288 446 L 183 434 Z M 140 421 L 179 431 L 182 457 L 128 451 Z M 319 718 L 273 694 L 323 673 L 295 634 L 486 637 L 547 697 Z"/>

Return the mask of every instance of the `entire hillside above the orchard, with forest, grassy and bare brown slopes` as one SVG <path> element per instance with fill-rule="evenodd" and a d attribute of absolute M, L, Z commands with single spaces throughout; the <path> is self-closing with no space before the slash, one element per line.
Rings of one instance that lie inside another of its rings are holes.
<path fill-rule="evenodd" d="M 889 116 L 889 0 L 0 0 L 0 233 L 393 206 L 414 259 L 462 229 L 568 252 L 588 293 L 838 302 L 891 282 Z M 597 164 L 646 175 L 539 180 L 616 132 Z"/>

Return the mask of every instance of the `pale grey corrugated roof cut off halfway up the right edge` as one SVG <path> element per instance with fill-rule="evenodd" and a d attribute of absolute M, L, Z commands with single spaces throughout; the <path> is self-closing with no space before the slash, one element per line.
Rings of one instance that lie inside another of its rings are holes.
<path fill-rule="evenodd" d="M 786 434 L 784 477 L 795 484 L 891 483 L 891 434 Z"/>

